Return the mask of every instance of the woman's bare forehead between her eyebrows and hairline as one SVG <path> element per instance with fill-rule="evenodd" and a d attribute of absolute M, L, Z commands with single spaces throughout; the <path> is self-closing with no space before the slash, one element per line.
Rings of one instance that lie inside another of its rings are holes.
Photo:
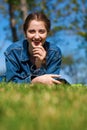
<path fill-rule="evenodd" d="M 46 28 L 44 21 L 31 20 L 28 28 Z"/>

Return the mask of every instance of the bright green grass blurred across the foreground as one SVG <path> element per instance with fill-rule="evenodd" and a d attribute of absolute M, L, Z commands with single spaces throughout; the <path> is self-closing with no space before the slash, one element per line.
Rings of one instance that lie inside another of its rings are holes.
<path fill-rule="evenodd" d="M 1 83 L 0 130 L 87 130 L 87 86 Z"/>

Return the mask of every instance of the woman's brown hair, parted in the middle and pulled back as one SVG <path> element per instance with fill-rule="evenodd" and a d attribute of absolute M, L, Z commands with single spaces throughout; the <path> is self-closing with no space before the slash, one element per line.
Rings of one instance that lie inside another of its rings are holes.
<path fill-rule="evenodd" d="M 26 33 L 28 25 L 31 20 L 43 21 L 45 23 L 47 32 L 50 31 L 51 23 L 50 23 L 50 20 L 47 18 L 47 16 L 42 12 L 34 12 L 34 13 L 29 14 L 25 19 L 25 22 L 23 24 L 24 33 Z"/>

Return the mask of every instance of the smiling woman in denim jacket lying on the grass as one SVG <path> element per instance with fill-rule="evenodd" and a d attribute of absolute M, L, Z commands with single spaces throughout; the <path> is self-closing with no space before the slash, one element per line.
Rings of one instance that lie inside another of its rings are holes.
<path fill-rule="evenodd" d="M 60 84 L 61 51 L 46 41 L 50 20 L 41 12 L 25 19 L 26 39 L 12 44 L 5 52 L 6 81 L 16 83 Z"/>

